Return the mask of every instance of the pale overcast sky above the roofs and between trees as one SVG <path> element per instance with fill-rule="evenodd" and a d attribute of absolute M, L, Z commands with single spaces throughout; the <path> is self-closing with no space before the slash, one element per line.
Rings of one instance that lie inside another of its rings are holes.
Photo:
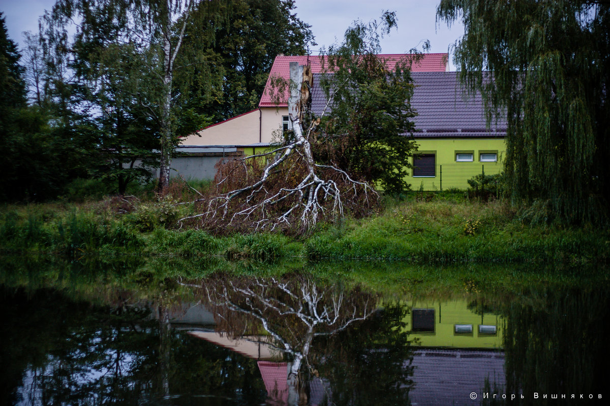
<path fill-rule="evenodd" d="M 38 31 L 38 17 L 50 9 L 55 0 L 0 0 L 9 37 L 22 43 L 23 31 Z M 368 22 L 379 18 L 383 10 L 397 12 L 398 30 L 392 30 L 382 40 L 384 54 L 402 54 L 412 47 L 421 49 L 423 40 L 429 40 L 430 52 L 447 52 L 463 33 L 464 27 L 456 24 L 436 24 L 437 0 L 296 0 L 296 15 L 311 24 L 319 46 L 341 41 L 345 29 L 355 19 Z M 312 54 L 316 55 L 317 50 Z M 453 69 L 453 64 L 451 65 Z"/>

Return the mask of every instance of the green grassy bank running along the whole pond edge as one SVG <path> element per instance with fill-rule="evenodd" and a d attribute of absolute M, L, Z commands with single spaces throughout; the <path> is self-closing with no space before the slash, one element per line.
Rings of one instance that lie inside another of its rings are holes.
<path fill-rule="evenodd" d="M 463 194 L 387 203 L 367 219 L 320 225 L 301 239 L 282 234 L 215 237 L 174 228 L 192 210 L 160 203 L 106 201 L 79 206 L 6 206 L 0 217 L 5 253 L 37 251 L 68 256 L 201 256 L 275 260 L 409 259 L 417 262 L 608 262 L 610 231 L 528 225 L 500 201 L 465 200 Z M 135 207 L 127 211 L 121 205 Z"/>

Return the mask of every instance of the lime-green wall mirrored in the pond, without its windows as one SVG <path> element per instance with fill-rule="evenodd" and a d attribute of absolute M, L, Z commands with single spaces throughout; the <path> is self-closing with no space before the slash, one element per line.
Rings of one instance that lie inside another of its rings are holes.
<path fill-rule="evenodd" d="M 502 318 L 498 315 L 469 309 L 466 299 L 450 301 L 407 301 L 411 307 L 404 321 L 407 329 L 412 330 L 413 309 L 434 309 L 434 332 L 412 332 L 411 338 L 417 338 L 416 345 L 425 347 L 455 347 L 455 348 L 501 348 Z M 455 324 L 472 324 L 472 333 L 456 334 Z M 479 334 L 479 324 L 497 327 L 496 334 Z"/>

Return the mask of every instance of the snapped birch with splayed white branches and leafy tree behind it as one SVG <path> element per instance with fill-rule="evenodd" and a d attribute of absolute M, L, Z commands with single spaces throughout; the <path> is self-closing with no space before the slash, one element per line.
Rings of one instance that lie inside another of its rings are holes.
<path fill-rule="evenodd" d="M 310 66 L 290 63 L 289 83 L 275 80 L 274 94 L 287 96 L 292 130 L 267 152 L 221 161 L 216 195 L 181 222 L 306 233 L 346 210 L 368 214 L 378 198 L 373 183 L 389 192 L 407 187 L 404 175 L 415 147 L 409 133 L 414 60 L 390 62 L 378 55 L 379 39 L 395 24 L 393 13 L 381 23 L 356 22 L 344 43 L 321 57 L 327 100 L 321 111 L 311 109 Z"/>

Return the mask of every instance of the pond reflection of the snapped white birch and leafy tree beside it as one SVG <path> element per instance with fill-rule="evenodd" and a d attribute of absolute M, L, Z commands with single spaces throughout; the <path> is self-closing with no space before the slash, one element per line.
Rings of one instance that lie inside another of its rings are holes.
<path fill-rule="evenodd" d="M 407 403 L 406 306 L 379 311 L 374 295 L 304 276 L 217 279 L 206 286 L 218 329 L 232 338 L 259 335 L 265 344 L 270 340 L 261 334 L 268 334 L 287 355 L 287 404 L 325 397 L 330 404 L 331 396 L 337 405 Z"/>

